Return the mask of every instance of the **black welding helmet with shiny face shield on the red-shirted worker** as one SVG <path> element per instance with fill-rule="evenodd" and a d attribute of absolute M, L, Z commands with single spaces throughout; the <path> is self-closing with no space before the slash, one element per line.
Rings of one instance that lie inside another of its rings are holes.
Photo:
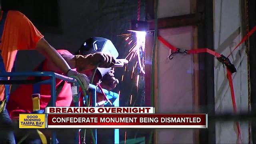
<path fill-rule="evenodd" d="M 116 47 L 106 38 L 92 37 L 87 39 L 79 49 L 79 53 L 82 55 L 93 54 L 95 52 L 103 52 L 104 54 L 110 54 L 114 58 L 118 57 L 118 51 Z M 111 68 L 98 68 L 101 76 L 104 76 Z"/>

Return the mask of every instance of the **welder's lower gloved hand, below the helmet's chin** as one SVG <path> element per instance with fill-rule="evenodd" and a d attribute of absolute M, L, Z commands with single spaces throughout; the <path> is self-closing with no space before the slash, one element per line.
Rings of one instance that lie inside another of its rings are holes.
<path fill-rule="evenodd" d="M 113 90 L 119 83 L 119 80 L 114 77 L 114 70 L 108 71 L 108 73 L 102 77 L 101 81 L 101 87 L 107 90 Z"/>

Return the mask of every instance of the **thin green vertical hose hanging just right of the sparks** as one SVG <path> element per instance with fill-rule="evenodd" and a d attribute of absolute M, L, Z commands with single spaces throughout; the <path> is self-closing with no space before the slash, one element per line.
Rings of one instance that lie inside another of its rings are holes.
<path fill-rule="evenodd" d="M 156 53 L 156 43 L 157 43 L 157 25 L 158 25 L 158 0 L 155 0 L 155 9 L 154 9 L 154 44 L 153 44 L 153 55 L 152 55 L 152 69 L 151 69 L 151 106 L 154 106 L 154 67 L 155 67 L 155 53 Z M 151 130 L 148 142 L 152 143 L 154 131 Z"/>

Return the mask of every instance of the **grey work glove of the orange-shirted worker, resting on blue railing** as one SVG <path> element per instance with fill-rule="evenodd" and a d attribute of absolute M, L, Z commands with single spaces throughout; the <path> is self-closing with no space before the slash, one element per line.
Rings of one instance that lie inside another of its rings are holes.
<path fill-rule="evenodd" d="M 89 89 L 90 80 L 89 80 L 88 76 L 86 76 L 85 74 L 80 74 L 75 70 L 68 70 L 68 73 L 66 75 L 78 77 L 79 80 L 81 80 L 85 90 Z"/>

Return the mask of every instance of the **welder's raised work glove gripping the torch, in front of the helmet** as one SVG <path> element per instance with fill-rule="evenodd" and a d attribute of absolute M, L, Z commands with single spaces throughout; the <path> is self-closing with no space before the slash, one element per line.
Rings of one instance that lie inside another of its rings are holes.
<path fill-rule="evenodd" d="M 76 68 L 78 71 L 95 69 L 97 64 L 100 68 L 110 68 L 114 66 L 116 60 L 109 54 L 96 52 L 86 56 L 76 55 Z"/>

